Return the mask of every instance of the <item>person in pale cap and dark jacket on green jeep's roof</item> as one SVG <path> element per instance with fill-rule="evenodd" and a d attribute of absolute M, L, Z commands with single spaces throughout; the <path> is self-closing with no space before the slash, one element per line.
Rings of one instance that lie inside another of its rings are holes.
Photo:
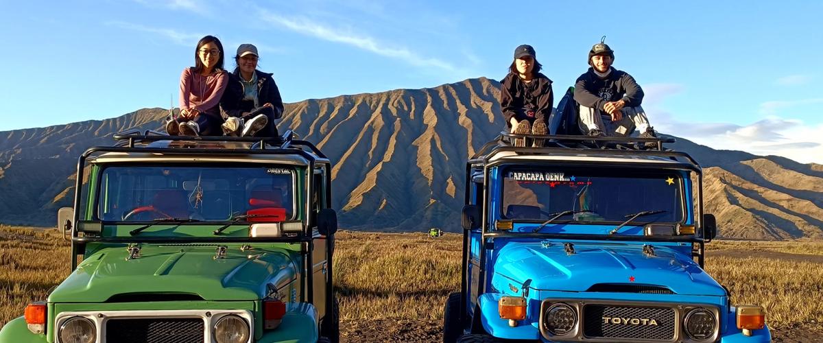
<path fill-rule="evenodd" d="M 278 137 L 274 120 L 283 114 L 283 100 L 272 74 L 257 70 L 258 50 L 240 44 L 235 55 L 237 67 L 220 105 L 226 123 L 223 133 L 239 137 Z"/>

